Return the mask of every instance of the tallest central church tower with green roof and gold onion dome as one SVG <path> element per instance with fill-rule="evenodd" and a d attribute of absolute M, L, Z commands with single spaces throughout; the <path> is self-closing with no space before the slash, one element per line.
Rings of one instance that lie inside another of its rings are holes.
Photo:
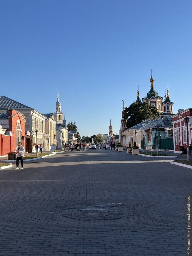
<path fill-rule="evenodd" d="M 151 83 L 151 89 L 148 92 L 147 96 L 143 98 L 143 102 L 147 102 L 150 106 L 155 106 L 160 113 L 163 112 L 163 98 L 161 96 L 158 96 L 157 92 L 154 89 L 154 79 L 152 77 L 152 71 L 151 71 L 151 79 L 149 80 Z"/>

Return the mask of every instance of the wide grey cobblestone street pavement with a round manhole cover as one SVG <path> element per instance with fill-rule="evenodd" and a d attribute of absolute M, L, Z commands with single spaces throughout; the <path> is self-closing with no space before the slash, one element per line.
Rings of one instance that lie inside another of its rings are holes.
<path fill-rule="evenodd" d="M 126 152 L 64 152 L 0 171 L 0 256 L 185 254 L 192 171 Z"/>

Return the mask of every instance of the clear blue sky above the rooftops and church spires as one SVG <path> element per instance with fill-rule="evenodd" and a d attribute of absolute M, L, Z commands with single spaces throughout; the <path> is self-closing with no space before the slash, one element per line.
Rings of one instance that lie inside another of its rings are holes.
<path fill-rule="evenodd" d="M 129 106 L 154 89 L 173 111 L 191 105 L 192 1 L 0 1 L 1 95 L 55 111 L 85 136 L 113 133 Z"/>

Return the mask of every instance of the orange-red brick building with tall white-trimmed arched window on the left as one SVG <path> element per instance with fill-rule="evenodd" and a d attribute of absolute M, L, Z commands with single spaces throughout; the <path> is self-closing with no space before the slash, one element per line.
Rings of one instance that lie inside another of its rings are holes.
<path fill-rule="evenodd" d="M 24 115 L 15 109 L 0 113 L 0 156 L 15 151 L 20 141 L 25 147 L 25 122 Z"/>

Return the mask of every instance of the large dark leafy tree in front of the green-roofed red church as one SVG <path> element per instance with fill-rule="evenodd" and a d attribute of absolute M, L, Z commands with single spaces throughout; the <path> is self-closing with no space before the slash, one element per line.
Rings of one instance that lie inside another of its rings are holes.
<path fill-rule="evenodd" d="M 125 108 L 124 120 L 126 120 L 126 127 L 130 128 L 148 118 L 157 119 L 159 116 L 160 113 L 155 106 L 150 106 L 147 102 L 133 102 Z"/>

